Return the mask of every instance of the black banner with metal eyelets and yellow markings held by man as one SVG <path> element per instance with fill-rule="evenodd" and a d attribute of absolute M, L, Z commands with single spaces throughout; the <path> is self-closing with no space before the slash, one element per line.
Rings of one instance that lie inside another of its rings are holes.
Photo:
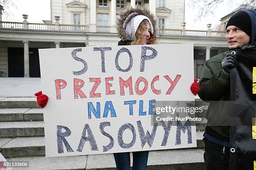
<path fill-rule="evenodd" d="M 256 168 L 256 49 L 233 50 L 236 68 L 230 70 L 230 169 Z"/>

